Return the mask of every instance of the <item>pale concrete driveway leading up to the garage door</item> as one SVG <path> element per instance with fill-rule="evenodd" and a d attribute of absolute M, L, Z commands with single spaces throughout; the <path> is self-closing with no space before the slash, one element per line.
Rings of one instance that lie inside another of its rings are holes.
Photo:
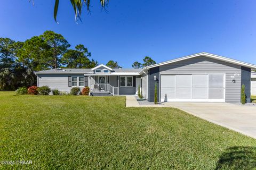
<path fill-rule="evenodd" d="M 163 103 L 256 139 L 256 106 L 230 103 Z"/>

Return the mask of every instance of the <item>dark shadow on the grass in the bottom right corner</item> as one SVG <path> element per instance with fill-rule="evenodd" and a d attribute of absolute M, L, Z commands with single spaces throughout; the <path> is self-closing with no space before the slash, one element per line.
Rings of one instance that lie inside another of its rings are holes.
<path fill-rule="evenodd" d="M 215 169 L 254 168 L 256 168 L 256 147 L 230 147 L 220 156 Z"/>

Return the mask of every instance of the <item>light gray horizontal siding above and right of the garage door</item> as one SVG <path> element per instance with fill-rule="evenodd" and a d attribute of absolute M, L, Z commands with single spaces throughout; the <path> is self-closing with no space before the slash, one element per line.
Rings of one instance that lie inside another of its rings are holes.
<path fill-rule="evenodd" d="M 226 102 L 240 102 L 241 96 L 241 66 L 215 60 L 213 58 L 198 56 L 187 60 L 165 64 L 159 66 L 160 74 L 207 74 L 225 73 L 226 74 Z M 236 82 L 231 79 L 231 75 L 236 76 Z M 152 87 L 151 87 L 152 88 Z"/>

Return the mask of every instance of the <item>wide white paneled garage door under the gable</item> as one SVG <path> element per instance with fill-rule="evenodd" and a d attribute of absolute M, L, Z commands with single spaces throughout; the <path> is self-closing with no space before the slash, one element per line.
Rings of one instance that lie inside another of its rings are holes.
<path fill-rule="evenodd" d="M 225 101 L 225 74 L 161 75 L 161 101 Z"/>

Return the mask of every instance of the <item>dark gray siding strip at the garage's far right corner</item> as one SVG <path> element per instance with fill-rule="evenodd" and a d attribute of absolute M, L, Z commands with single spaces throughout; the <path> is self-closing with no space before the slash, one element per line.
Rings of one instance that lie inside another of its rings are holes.
<path fill-rule="evenodd" d="M 245 86 L 246 102 L 251 103 L 251 69 L 242 66 L 241 67 L 241 87 Z"/>

